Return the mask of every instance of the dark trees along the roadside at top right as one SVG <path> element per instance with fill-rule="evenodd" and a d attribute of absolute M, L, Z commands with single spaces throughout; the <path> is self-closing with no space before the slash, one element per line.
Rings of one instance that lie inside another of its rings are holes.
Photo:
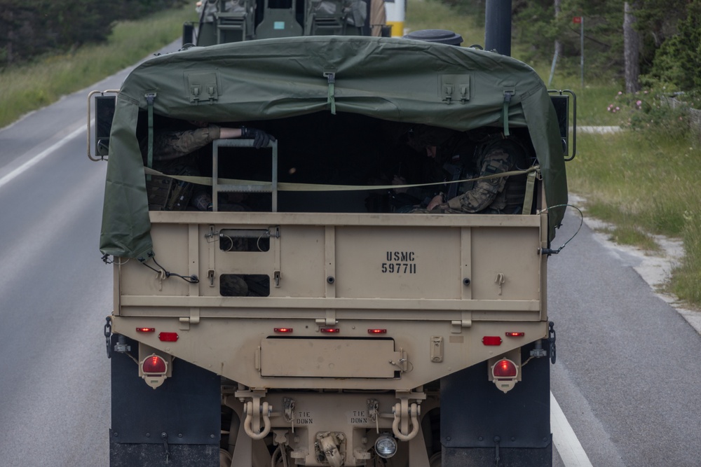
<path fill-rule="evenodd" d="M 489 0 L 444 1 L 483 19 Z M 585 74 L 636 81 L 627 89 L 639 81 L 701 88 L 701 0 L 512 0 L 512 10 L 513 41 L 527 45 L 526 61 L 550 63 L 557 48 L 558 69 L 578 73 L 581 29 L 573 18 L 581 17 Z M 624 24 L 634 34 L 624 36 Z"/>

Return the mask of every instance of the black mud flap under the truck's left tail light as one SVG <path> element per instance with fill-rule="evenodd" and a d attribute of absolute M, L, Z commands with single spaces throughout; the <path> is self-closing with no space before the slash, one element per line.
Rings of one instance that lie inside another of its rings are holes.
<path fill-rule="evenodd" d="M 116 335 L 112 336 L 112 346 Z M 132 356 L 139 344 L 127 340 Z M 174 359 L 172 377 L 151 389 L 137 363 L 112 352 L 110 467 L 219 467 L 220 380 Z"/>

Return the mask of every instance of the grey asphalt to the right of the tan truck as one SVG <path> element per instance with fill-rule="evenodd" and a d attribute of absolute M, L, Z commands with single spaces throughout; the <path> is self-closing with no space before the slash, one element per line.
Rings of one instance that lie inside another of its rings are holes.
<path fill-rule="evenodd" d="M 554 246 L 578 225 L 571 211 Z M 550 258 L 552 393 L 593 466 L 699 466 L 701 337 L 639 263 L 587 225 Z"/>

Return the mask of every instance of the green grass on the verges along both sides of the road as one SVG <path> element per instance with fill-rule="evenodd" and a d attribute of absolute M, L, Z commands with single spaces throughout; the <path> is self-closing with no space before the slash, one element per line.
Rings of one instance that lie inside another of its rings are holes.
<path fill-rule="evenodd" d="M 141 60 L 177 39 L 182 23 L 194 16 L 189 5 L 140 22 L 122 22 L 107 44 L 0 72 L 0 127 Z M 412 31 L 449 29 L 463 36 L 463 46 L 484 45 L 484 18 L 463 15 L 437 0 L 411 0 L 404 25 Z M 512 55 L 524 56 L 526 46 L 512 44 Z M 550 65 L 531 64 L 546 83 Z M 627 121 L 627 113 L 607 111 L 610 104 L 620 104 L 616 96 L 622 90 L 620 78 L 609 71 L 586 69 L 582 86 L 578 73 L 557 69 L 550 88 L 576 93 L 580 127 Z M 686 256 L 673 271 L 669 290 L 696 306 L 701 305 L 700 146 L 676 127 L 580 133 L 577 157 L 567 164 L 571 192 L 586 200 L 587 216 L 613 225 L 608 235 L 616 242 L 656 251 L 652 235 L 683 239 Z"/>

